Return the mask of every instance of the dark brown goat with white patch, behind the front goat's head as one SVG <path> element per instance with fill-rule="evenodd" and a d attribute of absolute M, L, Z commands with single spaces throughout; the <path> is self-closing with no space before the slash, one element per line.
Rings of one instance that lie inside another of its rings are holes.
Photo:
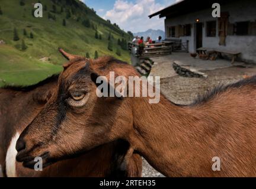
<path fill-rule="evenodd" d="M 57 89 L 59 76 L 52 76 L 34 86 L 5 87 L 0 89 L 0 165 L 4 175 L 9 177 L 140 177 L 142 159 L 133 154 L 132 162 L 126 170 L 120 170 L 121 162 L 129 144 L 114 141 L 82 154 L 79 157 L 59 161 L 34 171 L 23 167 L 21 163 L 6 159 L 7 151 L 15 133 L 23 129 L 36 117 L 37 113 Z M 68 141 L 67 141 L 68 142 Z M 15 145 L 14 145 L 15 149 Z M 5 168 L 5 161 L 8 167 Z M 0 172 L 0 175 L 2 172 Z"/>

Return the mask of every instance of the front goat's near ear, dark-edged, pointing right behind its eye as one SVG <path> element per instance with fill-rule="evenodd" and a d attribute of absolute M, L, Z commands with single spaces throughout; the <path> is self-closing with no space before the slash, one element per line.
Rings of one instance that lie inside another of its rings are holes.
<path fill-rule="evenodd" d="M 97 81 L 98 79 L 98 81 Z M 117 97 L 117 99 L 120 99 L 122 100 L 124 98 L 123 94 L 121 94 L 119 91 L 117 91 L 115 89 L 114 86 L 112 86 L 108 80 L 106 79 L 106 77 L 104 76 L 100 76 L 99 74 L 95 73 L 95 72 L 92 72 L 91 73 L 91 80 L 92 82 L 94 82 L 94 84 L 99 87 L 101 85 L 107 87 L 107 91 L 108 91 L 108 94 L 107 96 L 109 97 L 110 96 L 110 91 L 113 91 L 114 92 L 114 96 Z M 100 81 L 100 82 L 99 82 Z M 100 89 L 99 89 L 100 90 Z M 104 93 L 104 88 L 101 87 L 101 93 Z"/>

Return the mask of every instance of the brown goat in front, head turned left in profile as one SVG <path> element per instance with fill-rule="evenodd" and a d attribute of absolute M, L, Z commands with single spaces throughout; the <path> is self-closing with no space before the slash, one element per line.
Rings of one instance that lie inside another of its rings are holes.
<path fill-rule="evenodd" d="M 95 94 L 92 76 L 137 76 L 132 66 L 110 57 L 67 65 L 58 92 L 18 139 L 17 161 L 26 167 L 33 167 L 30 157 L 42 156 L 47 165 L 124 139 L 131 145 L 126 161 L 136 151 L 167 176 L 256 176 L 256 77 L 217 87 L 193 105 L 162 95 L 149 104 L 149 97 Z M 213 157 L 220 158 L 220 171 L 212 170 Z"/>

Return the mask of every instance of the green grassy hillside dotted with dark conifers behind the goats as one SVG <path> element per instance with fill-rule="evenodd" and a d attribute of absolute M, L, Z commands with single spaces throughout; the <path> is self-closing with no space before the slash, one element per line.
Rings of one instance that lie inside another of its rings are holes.
<path fill-rule="evenodd" d="M 20 2 L 24 5 L 20 5 Z M 33 84 L 47 76 L 62 70 L 66 61 L 57 51 L 62 47 L 69 53 L 94 58 L 111 55 L 124 61 L 130 61 L 127 50 L 121 49 L 118 39 L 129 40 L 129 35 L 117 26 L 110 24 L 80 1 L 76 0 L 40 0 L 43 4 L 43 18 L 34 18 L 32 10 L 35 0 L 1 0 L 0 6 L 0 86 L 3 84 Z M 47 8 L 47 10 L 46 10 Z M 55 11 L 56 8 L 56 11 Z M 70 18 L 67 17 L 70 12 Z M 50 18 L 49 18 L 50 13 Z M 66 25 L 63 25 L 65 19 Z M 90 22 L 86 27 L 84 21 Z M 20 40 L 14 41 L 14 28 Z M 27 35 L 24 35 L 24 29 Z M 98 37 L 95 38 L 95 32 Z M 33 33 L 33 38 L 30 33 Z M 113 51 L 108 50 L 109 34 Z M 24 40 L 25 50 L 22 49 Z M 121 56 L 116 51 L 120 50 Z M 47 61 L 41 58 L 47 57 Z M 3 82 L 5 80 L 5 82 Z"/>

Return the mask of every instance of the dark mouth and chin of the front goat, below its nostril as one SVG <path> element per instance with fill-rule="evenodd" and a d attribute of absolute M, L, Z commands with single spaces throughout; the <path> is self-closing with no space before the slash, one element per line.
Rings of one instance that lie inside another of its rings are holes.
<path fill-rule="evenodd" d="M 36 166 L 36 164 L 40 164 L 41 163 L 41 167 L 47 167 L 50 164 L 53 164 L 52 161 L 50 161 L 49 159 L 49 152 L 44 152 L 43 154 L 37 156 L 37 157 L 32 157 L 32 156 L 28 156 L 28 155 L 24 155 L 23 152 L 18 152 L 17 156 L 16 156 L 16 160 L 18 162 L 23 162 L 23 166 L 30 168 L 30 169 L 36 169 L 40 166 Z"/>

